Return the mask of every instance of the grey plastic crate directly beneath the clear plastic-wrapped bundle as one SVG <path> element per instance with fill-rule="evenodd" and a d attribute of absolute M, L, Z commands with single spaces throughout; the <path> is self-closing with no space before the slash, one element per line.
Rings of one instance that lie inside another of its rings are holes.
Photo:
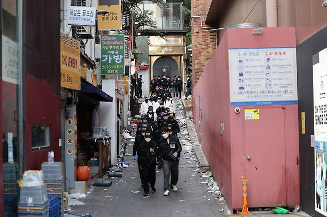
<path fill-rule="evenodd" d="M 48 199 L 48 192 L 45 185 L 20 188 L 20 203 L 42 204 Z"/>

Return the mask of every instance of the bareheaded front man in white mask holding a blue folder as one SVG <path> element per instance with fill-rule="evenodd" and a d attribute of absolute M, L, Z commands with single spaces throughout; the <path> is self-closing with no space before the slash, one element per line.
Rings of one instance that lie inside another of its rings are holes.
<path fill-rule="evenodd" d="M 178 181 L 178 155 L 180 154 L 182 147 L 179 139 L 169 134 L 169 129 L 164 127 L 162 129 L 162 138 L 159 140 L 159 155 L 163 159 L 164 165 L 164 196 L 168 196 L 169 192 L 169 178 L 171 174 L 172 190 L 177 191 Z"/>

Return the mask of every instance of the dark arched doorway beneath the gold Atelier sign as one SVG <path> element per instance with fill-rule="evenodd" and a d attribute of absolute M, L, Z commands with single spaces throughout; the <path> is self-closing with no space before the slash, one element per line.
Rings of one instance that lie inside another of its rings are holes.
<path fill-rule="evenodd" d="M 178 64 L 170 56 L 161 56 L 153 64 L 153 76 L 170 76 L 173 78 L 175 75 L 179 76 Z"/>

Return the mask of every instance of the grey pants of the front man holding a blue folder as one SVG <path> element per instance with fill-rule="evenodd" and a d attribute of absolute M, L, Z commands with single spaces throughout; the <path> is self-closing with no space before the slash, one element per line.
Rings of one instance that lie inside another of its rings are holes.
<path fill-rule="evenodd" d="M 164 190 L 169 190 L 169 178 L 171 172 L 171 184 L 176 185 L 178 181 L 178 161 L 163 161 L 164 165 Z"/>

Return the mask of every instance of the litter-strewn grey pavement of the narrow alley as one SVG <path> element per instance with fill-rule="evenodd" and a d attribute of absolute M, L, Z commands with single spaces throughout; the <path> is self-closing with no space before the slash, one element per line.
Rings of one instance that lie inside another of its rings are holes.
<path fill-rule="evenodd" d="M 178 102 L 181 105 L 181 102 Z M 176 119 L 185 123 L 183 110 L 177 109 Z M 74 210 L 92 214 L 92 217 L 217 217 L 230 216 L 223 203 L 218 206 L 217 195 L 207 194 L 207 182 L 213 178 L 201 177 L 198 163 L 188 142 L 189 135 L 185 124 L 182 124 L 179 139 L 183 150 L 179 163 L 178 191 L 171 191 L 164 196 L 163 168 L 156 169 L 157 192 L 150 193 L 150 198 L 143 198 L 140 176 L 136 161 L 132 161 L 131 152 L 135 137 L 135 127 L 131 138 L 126 139 L 127 150 L 125 160 L 129 166 L 123 169 L 121 178 L 112 179 L 109 187 L 93 186 L 86 198 L 79 199 L 85 203 L 72 207 Z M 223 208 L 224 211 L 219 212 Z"/>

